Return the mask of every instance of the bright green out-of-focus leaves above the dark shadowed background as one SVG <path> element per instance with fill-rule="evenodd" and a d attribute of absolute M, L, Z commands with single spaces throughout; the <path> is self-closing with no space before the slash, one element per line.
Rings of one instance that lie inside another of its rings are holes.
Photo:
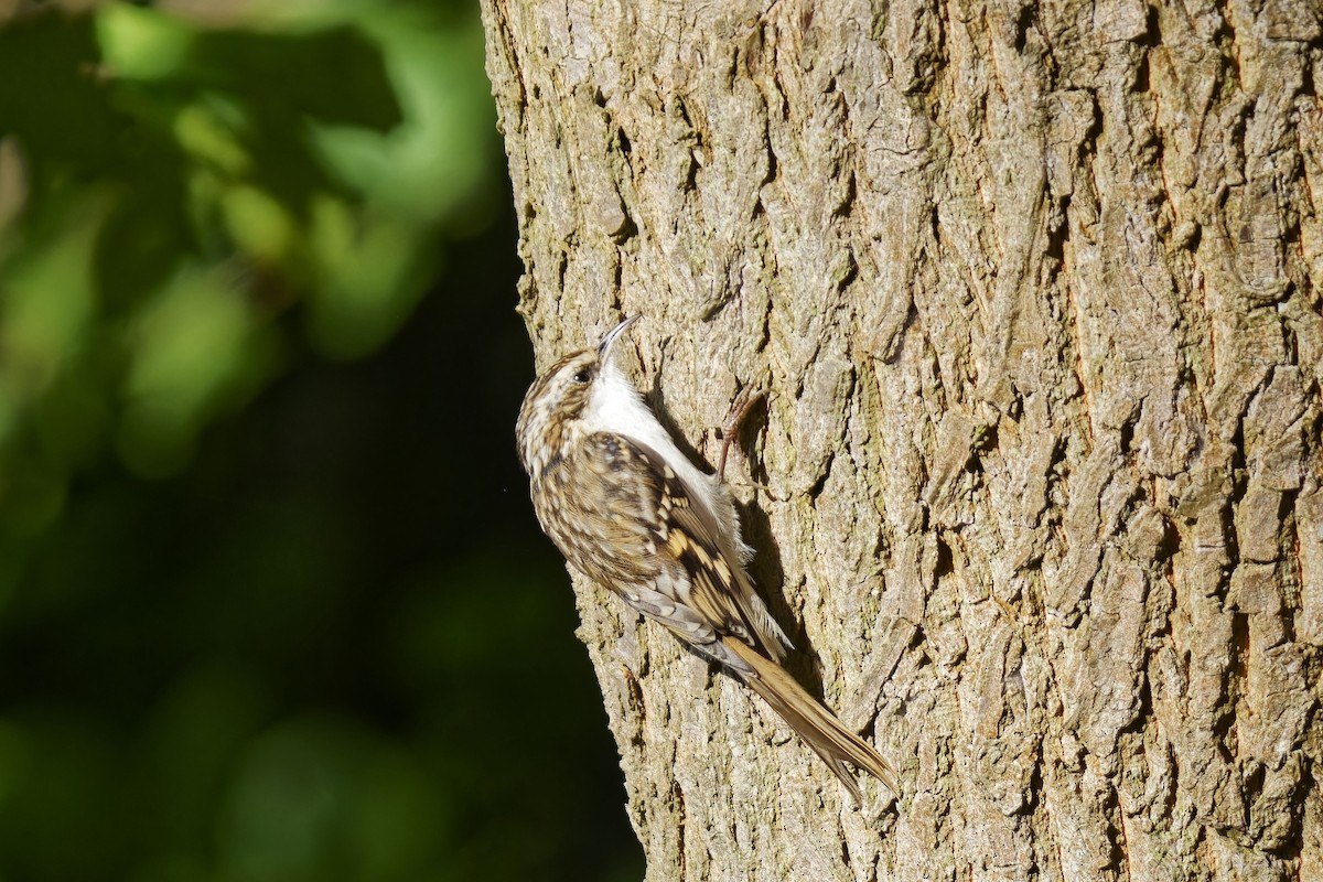
<path fill-rule="evenodd" d="M 11 525 L 58 516 L 106 447 L 184 468 L 279 370 L 295 303 L 316 352 L 374 350 L 437 276 L 438 234 L 490 220 L 476 16 L 280 11 L 214 29 L 111 3 L 0 30 L 0 465 L 28 467 L 0 485 Z"/>

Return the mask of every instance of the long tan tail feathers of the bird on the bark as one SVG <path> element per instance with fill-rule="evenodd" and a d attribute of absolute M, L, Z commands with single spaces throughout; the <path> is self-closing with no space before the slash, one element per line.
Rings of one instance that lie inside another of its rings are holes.
<path fill-rule="evenodd" d="M 722 643 L 754 669 L 754 676 L 744 677 L 749 688 L 762 696 L 762 700 L 785 718 L 814 752 L 831 766 L 841 783 L 849 788 L 856 805 L 861 804 L 863 795 L 845 763 L 863 768 L 886 784 L 897 799 L 900 797 L 901 791 L 886 760 L 859 735 L 845 729 L 844 723 L 795 682 L 785 668 L 765 659 L 742 640 L 725 637 Z"/>

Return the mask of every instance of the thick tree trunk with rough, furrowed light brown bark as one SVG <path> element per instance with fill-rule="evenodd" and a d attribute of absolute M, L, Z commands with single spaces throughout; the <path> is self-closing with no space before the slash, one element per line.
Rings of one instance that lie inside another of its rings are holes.
<path fill-rule="evenodd" d="M 484 21 L 540 366 L 643 313 L 708 464 L 769 391 L 751 573 L 904 789 L 576 577 L 648 878 L 1318 878 L 1318 7 Z"/>

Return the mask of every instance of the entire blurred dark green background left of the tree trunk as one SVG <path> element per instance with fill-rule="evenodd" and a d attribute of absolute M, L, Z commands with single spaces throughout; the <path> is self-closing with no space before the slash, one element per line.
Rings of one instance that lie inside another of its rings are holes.
<path fill-rule="evenodd" d="M 0 882 L 638 878 L 512 454 L 476 9 L 36 5 L 0 3 Z"/>

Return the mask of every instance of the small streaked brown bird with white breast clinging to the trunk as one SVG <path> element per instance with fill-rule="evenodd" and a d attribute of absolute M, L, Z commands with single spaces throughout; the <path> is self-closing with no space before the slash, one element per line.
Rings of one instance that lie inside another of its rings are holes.
<path fill-rule="evenodd" d="M 524 397 L 515 435 L 542 530 L 570 566 L 767 702 L 856 805 L 861 791 L 847 763 L 898 797 L 877 750 L 783 666 L 792 645 L 745 570 L 753 550 L 724 480 L 742 414 L 724 432 L 717 472 L 695 465 L 613 358 L 638 317 L 556 361 Z"/>

